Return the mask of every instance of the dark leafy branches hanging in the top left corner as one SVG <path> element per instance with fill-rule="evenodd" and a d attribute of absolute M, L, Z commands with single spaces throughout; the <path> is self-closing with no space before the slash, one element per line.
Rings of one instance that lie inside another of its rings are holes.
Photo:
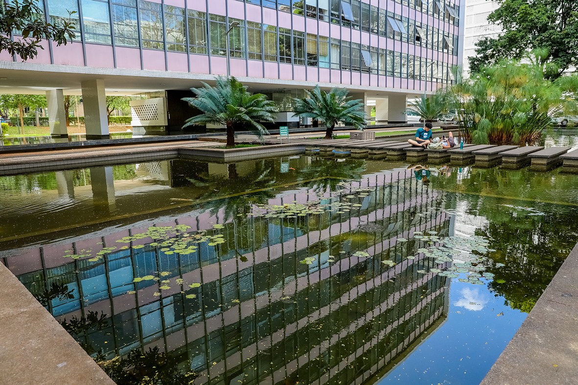
<path fill-rule="evenodd" d="M 40 42 L 51 39 L 58 46 L 66 45 L 75 38 L 75 24 L 61 20 L 61 23 L 46 23 L 38 0 L 2 1 L 0 7 L 0 51 L 18 55 L 23 61 L 36 57 Z M 76 12 L 69 12 L 70 14 Z M 14 38 L 22 35 L 22 39 Z"/>

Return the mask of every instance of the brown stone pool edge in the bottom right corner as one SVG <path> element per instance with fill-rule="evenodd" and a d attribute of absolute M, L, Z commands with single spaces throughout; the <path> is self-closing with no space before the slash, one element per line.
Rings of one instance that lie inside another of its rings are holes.
<path fill-rule="evenodd" d="M 480 385 L 578 383 L 578 244 Z"/>

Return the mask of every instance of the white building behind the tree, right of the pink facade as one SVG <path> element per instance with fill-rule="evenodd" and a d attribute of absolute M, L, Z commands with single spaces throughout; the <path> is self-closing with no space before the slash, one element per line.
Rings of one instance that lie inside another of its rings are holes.
<path fill-rule="evenodd" d="M 499 7 L 494 0 L 466 0 L 464 28 L 464 69 L 462 76 L 469 77 L 469 57 L 476 55 L 476 43 L 481 39 L 495 38 L 502 27 L 490 24 L 488 16 Z"/>

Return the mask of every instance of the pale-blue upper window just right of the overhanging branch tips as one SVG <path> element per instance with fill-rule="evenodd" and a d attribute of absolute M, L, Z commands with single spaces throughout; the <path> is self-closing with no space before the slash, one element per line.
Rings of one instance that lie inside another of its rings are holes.
<path fill-rule="evenodd" d="M 82 2 L 84 41 L 92 43 L 112 43 L 110 38 L 110 14 L 108 3 L 95 0 Z"/>

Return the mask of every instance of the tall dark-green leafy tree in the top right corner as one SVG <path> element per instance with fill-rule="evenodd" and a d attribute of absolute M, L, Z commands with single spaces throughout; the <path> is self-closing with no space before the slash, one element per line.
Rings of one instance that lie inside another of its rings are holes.
<path fill-rule="evenodd" d="M 560 0 L 497 0 L 500 7 L 488 21 L 502 26 L 496 38 L 477 43 L 477 57 L 469 58 L 472 72 L 507 58 L 521 59 L 533 49 L 545 49 L 542 64 L 551 63 L 548 79 L 557 79 L 578 66 L 578 2 Z"/>

